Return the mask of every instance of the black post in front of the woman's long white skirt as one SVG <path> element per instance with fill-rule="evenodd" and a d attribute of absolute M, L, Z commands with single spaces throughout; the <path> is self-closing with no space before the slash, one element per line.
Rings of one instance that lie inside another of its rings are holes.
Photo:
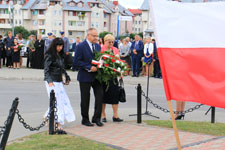
<path fill-rule="evenodd" d="M 55 105 L 55 92 L 54 90 L 50 93 L 50 106 L 49 106 L 49 134 L 53 135 L 54 131 L 54 121 L 55 121 L 55 112 L 54 112 L 54 105 Z"/>

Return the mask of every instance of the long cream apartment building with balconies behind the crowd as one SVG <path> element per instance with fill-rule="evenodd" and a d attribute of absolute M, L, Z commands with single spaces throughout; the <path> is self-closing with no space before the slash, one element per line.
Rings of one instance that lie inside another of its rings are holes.
<path fill-rule="evenodd" d="M 69 38 L 84 39 L 86 30 L 94 27 L 98 32 L 117 33 L 117 16 L 132 16 L 117 0 L 0 0 L 0 34 L 11 29 L 8 7 L 14 12 L 14 25 L 27 30 L 48 32 L 59 36 L 65 31 Z M 132 32 L 130 23 L 120 22 L 120 34 Z"/>

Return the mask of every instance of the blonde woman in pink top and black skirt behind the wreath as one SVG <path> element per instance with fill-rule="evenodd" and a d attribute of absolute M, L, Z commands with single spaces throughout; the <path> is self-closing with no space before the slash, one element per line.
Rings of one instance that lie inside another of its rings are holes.
<path fill-rule="evenodd" d="M 110 51 L 116 57 L 119 57 L 119 50 L 116 47 L 113 47 L 115 38 L 111 34 L 107 34 L 104 37 L 104 45 L 101 52 Z M 118 116 L 118 107 L 119 107 L 119 86 L 117 78 L 113 78 L 109 81 L 109 88 L 103 83 L 103 104 L 102 104 L 102 122 L 107 122 L 105 108 L 106 104 L 111 104 L 113 108 L 113 122 L 122 122 L 123 120 Z"/>

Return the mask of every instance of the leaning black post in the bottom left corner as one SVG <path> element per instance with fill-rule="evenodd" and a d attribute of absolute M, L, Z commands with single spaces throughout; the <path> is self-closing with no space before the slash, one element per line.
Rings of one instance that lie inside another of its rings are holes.
<path fill-rule="evenodd" d="M 16 98 L 13 103 L 12 103 L 12 107 L 9 111 L 9 116 L 7 118 L 7 123 L 5 125 L 5 131 L 2 137 L 2 141 L 1 141 L 1 145 L 0 145 L 0 150 L 5 150 L 5 146 L 7 144 L 8 138 L 9 138 L 9 134 L 10 134 L 10 130 L 13 124 L 13 120 L 16 114 L 16 110 L 19 104 L 19 98 Z"/>

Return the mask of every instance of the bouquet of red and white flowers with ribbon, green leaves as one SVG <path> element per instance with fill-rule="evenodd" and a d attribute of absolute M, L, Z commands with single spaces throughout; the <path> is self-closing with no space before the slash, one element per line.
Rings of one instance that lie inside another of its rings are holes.
<path fill-rule="evenodd" d="M 128 69 L 125 61 L 116 57 L 112 52 L 96 52 L 94 59 L 92 60 L 92 64 L 99 68 L 96 78 L 101 83 L 104 82 L 107 87 L 111 79 L 122 76 Z"/>

